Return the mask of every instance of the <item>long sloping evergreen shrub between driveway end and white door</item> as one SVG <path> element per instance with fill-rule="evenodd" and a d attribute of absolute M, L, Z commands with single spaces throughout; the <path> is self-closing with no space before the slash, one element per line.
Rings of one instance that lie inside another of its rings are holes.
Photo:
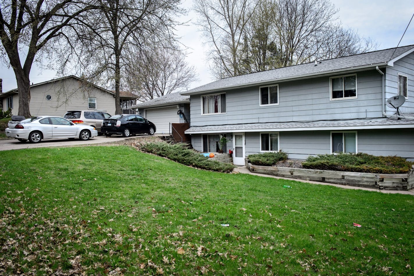
<path fill-rule="evenodd" d="M 145 143 L 141 146 L 141 150 L 147 153 L 153 153 L 178 163 L 196 167 L 199 169 L 207 169 L 214 172 L 231 172 L 236 167 L 233 164 L 222 163 L 216 160 L 209 160 L 209 157 L 200 155 L 195 150 L 185 148 L 185 144 L 168 144 L 165 142 Z"/>

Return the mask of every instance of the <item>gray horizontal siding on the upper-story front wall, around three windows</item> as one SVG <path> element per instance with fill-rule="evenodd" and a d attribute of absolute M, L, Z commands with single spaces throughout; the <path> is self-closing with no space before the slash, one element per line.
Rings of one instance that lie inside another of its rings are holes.
<path fill-rule="evenodd" d="M 381 117 L 381 75 L 357 73 L 357 99 L 330 101 L 330 78 L 275 83 L 279 105 L 259 106 L 259 86 L 226 92 L 226 114 L 201 115 L 201 97 L 190 97 L 191 125 Z"/>

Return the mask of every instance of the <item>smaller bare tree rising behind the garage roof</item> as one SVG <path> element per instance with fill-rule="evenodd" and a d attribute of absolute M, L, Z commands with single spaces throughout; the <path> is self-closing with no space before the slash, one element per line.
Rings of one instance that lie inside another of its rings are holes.
<path fill-rule="evenodd" d="M 176 46 L 154 48 L 140 56 L 131 59 L 128 85 L 142 102 L 180 92 L 197 80 L 195 68 L 188 65 L 185 53 Z"/>

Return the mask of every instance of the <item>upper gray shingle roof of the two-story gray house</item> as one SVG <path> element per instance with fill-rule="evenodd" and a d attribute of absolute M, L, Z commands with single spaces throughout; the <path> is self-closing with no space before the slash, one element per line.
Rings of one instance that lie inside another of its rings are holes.
<path fill-rule="evenodd" d="M 238 87 L 255 85 L 258 82 L 272 82 L 286 78 L 302 77 L 305 75 L 323 74 L 335 70 L 347 70 L 355 67 L 378 65 L 388 63 L 392 58 L 396 58 L 403 53 L 414 48 L 414 45 L 403 46 L 399 48 L 390 48 L 369 53 L 362 53 L 353 56 L 344 56 L 342 58 L 333 58 L 315 63 L 305 63 L 289 67 L 277 68 L 258 73 L 240 75 L 236 77 L 227 77 L 225 79 L 210 82 L 206 85 L 193 88 L 182 94 L 196 94 L 197 92 L 219 90 L 226 87 Z"/>

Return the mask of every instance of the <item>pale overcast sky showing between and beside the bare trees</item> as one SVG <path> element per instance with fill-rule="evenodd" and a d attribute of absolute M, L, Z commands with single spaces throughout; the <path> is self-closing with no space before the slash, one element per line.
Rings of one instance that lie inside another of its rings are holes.
<path fill-rule="evenodd" d="M 184 0 L 183 6 L 190 8 L 193 0 Z M 378 50 L 396 47 L 404 33 L 409 20 L 414 13 L 412 0 L 331 0 L 339 9 L 339 18 L 344 27 L 358 31 L 361 36 L 371 37 L 378 43 Z M 375 3 L 375 4 L 374 4 Z M 194 22 L 196 15 L 189 12 L 183 21 Z M 212 82 L 214 79 L 209 74 L 208 65 L 204 52 L 207 46 L 203 46 L 197 27 L 191 23 L 181 26 L 177 30 L 178 36 L 182 37 L 181 43 L 190 48 L 191 53 L 187 61 L 193 65 L 199 75 L 200 81 L 193 82 L 190 88 Z M 414 19 L 407 29 L 400 46 L 414 44 Z M 24 60 L 22 58 L 22 60 Z M 14 72 L 4 64 L 0 65 L 3 79 L 3 92 L 17 87 Z M 51 70 L 40 70 L 34 65 L 30 73 L 30 81 L 39 83 L 56 77 L 56 72 Z"/>

